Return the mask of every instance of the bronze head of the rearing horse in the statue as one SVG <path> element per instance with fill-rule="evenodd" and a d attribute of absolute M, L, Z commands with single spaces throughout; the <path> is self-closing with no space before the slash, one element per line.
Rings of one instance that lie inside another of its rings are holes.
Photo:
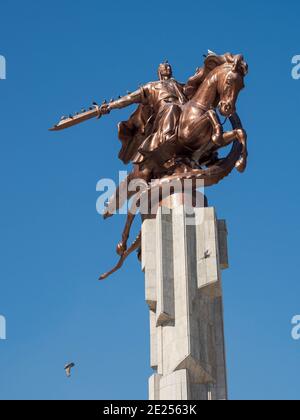
<path fill-rule="evenodd" d="M 227 62 L 218 68 L 219 110 L 224 117 L 230 117 L 236 111 L 236 101 L 245 87 L 244 78 L 248 65 L 242 55 L 227 56 Z"/>

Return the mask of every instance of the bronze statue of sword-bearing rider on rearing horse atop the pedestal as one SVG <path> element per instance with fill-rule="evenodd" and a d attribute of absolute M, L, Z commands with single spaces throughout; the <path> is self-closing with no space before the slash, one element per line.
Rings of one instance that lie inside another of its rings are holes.
<path fill-rule="evenodd" d="M 125 164 L 132 162 L 133 170 L 109 200 L 104 214 L 108 218 L 123 206 L 124 200 L 136 194 L 128 189 L 135 179 L 144 180 L 149 189 L 153 185 L 159 188 L 162 182 L 172 179 L 203 180 L 205 186 L 211 186 L 234 167 L 240 172 L 246 169 L 247 135 L 236 113 L 236 101 L 247 73 L 248 65 L 242 55 L 209 52 L 203 68 L 184 85 L 173 78 L 172 67 L 165 62 L 159 66 L 158 81 L 116 101 L 104 102 L 101 106 L 94 104 L 89 111 L 63 117 L 52 130 L 138 104 L 129 120 L 118 127 L 122 142 L 119 158 Z M 217 109 L 230 119 L 231 131 L 223 131 Z M 229 155 L 219 159 L 218 150 L 231 143 Z M 122 241 L 117 247 L 119 263 L 101 279 L 119 269 L 127 256 L 140 248 L 141 234 L 127 248 L 134 217 L 135 213 L 129 211 Z"/>

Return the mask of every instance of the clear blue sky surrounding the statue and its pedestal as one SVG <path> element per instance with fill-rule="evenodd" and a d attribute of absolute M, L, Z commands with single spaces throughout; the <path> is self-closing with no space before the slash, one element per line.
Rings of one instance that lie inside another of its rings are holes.
<path fill-rule="evenodd" d="M 117 178 L 116 124 L 50 133 L 62 114 L 156 77 L 168 58 L 185 81 L 208 48 L 249 62 L 239 114 L 249 168 L 208 191 L 226 218 L 224 275 L 233 399 L 300 397 L 298 1 L 2 0 L 0 54 L 1 399 L 145 399 L 148 310 L 135 257 L 106 283 L 123 218 L 95 211 L 96 183 Z M 125 168 L 126 169 L 126 168 Z M 67 381 L 63 366 L 77 368 Z"/>

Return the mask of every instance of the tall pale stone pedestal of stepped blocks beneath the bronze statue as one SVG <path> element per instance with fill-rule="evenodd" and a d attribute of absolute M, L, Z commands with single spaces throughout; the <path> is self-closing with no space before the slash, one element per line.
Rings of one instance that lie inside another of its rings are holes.
<path fill-rule="evenodd" d="M 168 214 L 169 213 L 169 214 Z M 142 228 L 150 309 L 150 400 L 226 400 L 221 270 L 227 230 L 214 208 L 160 207 Z"/>

